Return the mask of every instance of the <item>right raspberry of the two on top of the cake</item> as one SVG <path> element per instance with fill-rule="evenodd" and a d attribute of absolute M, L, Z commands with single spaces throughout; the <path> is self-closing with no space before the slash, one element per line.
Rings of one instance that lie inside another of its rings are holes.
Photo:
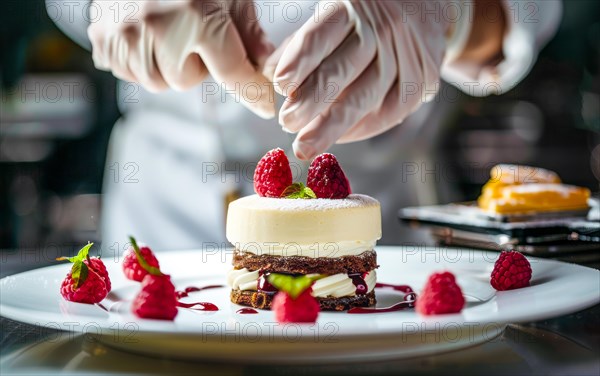
<path fill-rule="evenodd" d="M 350 183 L 333 154 L 318 155 L 308 168 L 306 185 L 318 198 L 345 198 L 351 193 Z"/>

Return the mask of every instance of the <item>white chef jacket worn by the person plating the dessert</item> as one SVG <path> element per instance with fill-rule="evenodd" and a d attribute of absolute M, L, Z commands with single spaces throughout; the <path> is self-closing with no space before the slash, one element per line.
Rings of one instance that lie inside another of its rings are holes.
<path fill-rule="evenodd" d="M 55 7 L 66 7 L 66 3 L 73 7 L 72 1 L 46 3 L 51 15 Z M 262 14 L 261 24 L 277 46 L 313 15 L 315 1 L 256 3 Z M 537 51 L 555 33 L 562 6 L 560 1 L 543 0 L 505 0 L 504 5 L 509 15 L 506 59 L 502 62 L 505 69 L 493 80 L 508 89 L 528 73 Z M 76 41 L 89 45 L 85 20 L 78 19 L 78 15 L 75 12 L 73 22 L 68 22 L 68 17 L 54 19 Z M 454 41 L 453 48 L 460 44 Z M 479 87 L 484 88 L 490 80 L 485 72 L 474 73 L 446 61 L 442 76 L 458 88 L 466 88 L 469 94 L 492 93 L 473 90 L 478 87 L 473 81 L 481 82 Z M 462 86 L 465 81 L 471 84 Z M 123 117 L 110 139 L 103 184 L 104 251 L 123 251 L 129 234 L 159 251 L 225 247 L 226 197 L 232 191 L 252 193 L 254 166 L 274 147 L 287 151 L 294 180 L 305 178 L 308 165 L 293 157 L 293 135 L 284 133 L 275 119 L 261 119 L 236 103 L 211 79 L 186 92 L 169 90 L 159 94 L 120 82 L 118 98 Z M 406 240 L 396 219 L 400 207 L 436 203 L 440 192 L 444 197 L 453 197 L 444 167 L 429 157 L 435 145 L 427 125 L 444 113 L 440 107 L 448 106 L 434 100 L 383 137 L 331 149 L 346 171 L 352 190 L 381 201 L 385 243 Z"/>

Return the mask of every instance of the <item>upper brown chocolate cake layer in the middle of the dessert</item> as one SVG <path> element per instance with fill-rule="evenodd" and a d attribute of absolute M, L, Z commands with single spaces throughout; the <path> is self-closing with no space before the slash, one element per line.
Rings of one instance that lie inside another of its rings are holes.
<path fill-rule="evenodd" d="M 250 252 L 235 250 L 233 267 L 263 272 L 287 274 L 327 274 L 367 273 L 376 269 L 377 253 L 365 251 L 358 256 L 342 257 L 306 257 L 306 256 L 271 256 L 255 255 Z"/>

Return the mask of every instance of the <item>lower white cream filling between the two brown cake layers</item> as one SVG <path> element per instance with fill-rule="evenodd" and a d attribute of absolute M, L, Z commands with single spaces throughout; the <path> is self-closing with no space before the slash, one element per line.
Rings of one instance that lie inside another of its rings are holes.
<path fill-rule="evenodd" d="M 259 274 L 258 270 L 253 272 L 248 269 L 230 270 L 227 273 L 227 283 L 234 290 L 256 291 L 258 285 Z M 377 283 L 377 273 L 371 270 L 364 277 L 367 284 L 367 292 L 373 291 Z M 313 296 L 318 298 L 356 295 L 356 286 L 352 282 L 352 278 L 348 274 L 340 273 L 330 275 L 317 280 L 312 285 Z"/>

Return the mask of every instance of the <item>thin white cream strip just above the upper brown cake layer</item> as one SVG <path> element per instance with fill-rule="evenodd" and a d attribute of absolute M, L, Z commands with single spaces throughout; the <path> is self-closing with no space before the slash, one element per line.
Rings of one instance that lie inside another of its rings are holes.
<path fill-rule="evenodd" d="M 249 242 L 234 243 L 236 249 L 242 252 L 249 252 L 255 255 L 270 256 L 304 256 L 304 257 L 342 257 L 358 256 L 365 251 L 371 251 L 375 248 L 377 239 L 368 241 L 351 240 L 330 243 L 312 243 L 298 244 L 277 243 L 277 242 Z"/>

